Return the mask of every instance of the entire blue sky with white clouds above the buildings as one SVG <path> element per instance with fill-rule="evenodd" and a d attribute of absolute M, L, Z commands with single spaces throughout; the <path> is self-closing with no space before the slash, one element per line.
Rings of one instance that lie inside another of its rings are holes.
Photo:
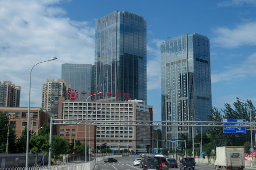
<path fill-rule="evenodd" d="M 1 0 L 0 81 L 21 86 L 20 107 L 41 107 L 42 84 L 61 64 L 94 63 L 95 21 L 128 10 L 147 21 L 147 104 L 161 120 L 160 43 L 193 32 L 210 40 L 212 106 L 255 105 L 256 0 Z"/>

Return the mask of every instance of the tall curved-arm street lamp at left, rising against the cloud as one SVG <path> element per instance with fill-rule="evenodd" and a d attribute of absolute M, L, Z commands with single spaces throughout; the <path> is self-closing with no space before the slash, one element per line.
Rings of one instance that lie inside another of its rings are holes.
<path fill-rule="evenodd" d="M 46 61 L 51 61 L 51 60 L 55 60 L 57 59 L 57 57 L 53 57 L 49 60 Z M 31 71 L 34 68 L 35 65 L 39 64 L 39 63 L 43 63 L 46 61 L 41 61 L 38 62 L 36 64 L 34 64 L 30 70 L 30 74 L 29 74 L 29 93 L 28 93 L 28 111 L 27 111 L 27 125 L 26 125 L 26 166 L 25 166 L 25 170 L 27 170 L 28 167 L 28 144 L 29 144 L 29 111 L 30 111 L 30 88 L 31 88 Z"/>

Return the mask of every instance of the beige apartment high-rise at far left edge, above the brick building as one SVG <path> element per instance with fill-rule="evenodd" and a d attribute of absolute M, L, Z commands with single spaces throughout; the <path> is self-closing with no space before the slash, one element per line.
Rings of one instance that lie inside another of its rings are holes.
<path fill-rule="evenodd" d="M 0 106 L 19 107 L 20 86 L 11 84 L 10 81 L 0 82 Z"/>

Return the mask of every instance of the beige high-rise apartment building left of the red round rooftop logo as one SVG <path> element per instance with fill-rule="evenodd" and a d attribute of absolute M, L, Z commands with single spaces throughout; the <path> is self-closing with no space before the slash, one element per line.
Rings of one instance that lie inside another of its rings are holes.
<path fill-rule="evenodd" d="M 58 98 L 65 97 L 70 90 L 70 85 L 66 85 L 63 79 L 47 79 L 42 85 L 42 109 L 46 109 L 50 116 L 58 116 Z"/>

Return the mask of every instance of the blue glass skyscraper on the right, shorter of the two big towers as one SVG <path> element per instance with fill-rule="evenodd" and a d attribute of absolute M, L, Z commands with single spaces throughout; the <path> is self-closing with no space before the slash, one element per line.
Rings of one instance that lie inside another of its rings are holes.
<path fill-rule="evenodd" d="M 161 43 L 162 121 L 207 121 L 211 109 L 209 39 L 193 33 Z M 195 131 L 193 131 L 195 132 Z M 164 146 L 180 135 L 192 137 L 191 127 L 163 127 Z M 174 148 L 174 146 L 173 146 Z"/>

